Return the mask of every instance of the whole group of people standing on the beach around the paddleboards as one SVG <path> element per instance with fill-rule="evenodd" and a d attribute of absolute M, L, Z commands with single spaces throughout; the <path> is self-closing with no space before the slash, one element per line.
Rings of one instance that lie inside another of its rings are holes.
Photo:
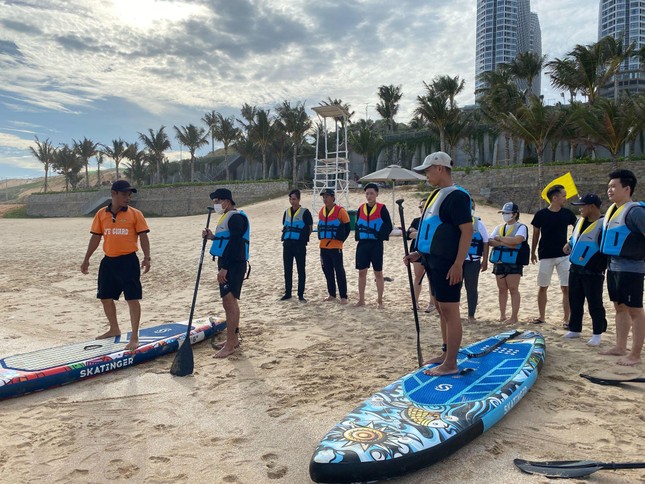
<path fill-rule="evenodd" d="M 427 370 L 431 375 L 455 373 L 457 352 L 461 345 L 462 326 L 459 310 L 461 287 L 465 285 L 468 319 L 474 321 L 477 308 L 479 274 L 493 265 L 499 289 L 500 321 L 518 322 L 520 307 L 519 283 L 523 267 L 529 261 L 539 261 L 538 311 L 532 322 L 545 321 L 547 289 L 553 271 L 557 271 L 562 290 L 563 326 L 566 338 L 581 334 L 584 301 L 587 301 L 593 323 L 589 345 L 597 346 L 607 328 L 602 304 L 604 273 L 607 289 L 616 310 L 616 344 L 603 352 L 618 355 L 622 365 L 640 363 L 645 337 L 643 312 L 643 279 L 645 277 L 645 204 L 632 200 L 636 177 L 629 170 L 609 174 L 607 195 L 612 205 L 603 217 L 601 200 L 586 194 L 573 205 L 580 206 L 579 219 L 564 207 L 567 195 L 564 187 L 555 185 L 547 192 L 549 206 L 538 211 L 531 221 L 533 239 L 528 246 L 528 228 L 519 222 L 519 207 L 508 202 L 499 213 L 503 223 L 488 234 L 485 225 L 475 216 L 475 203 L 470 194 L 455 185 L 452 179 L 452 160 L 444 152 L 428 155 L 423 164 L 413 168 L 425 173 L 436 189 L 419 205 L 421 216 L 415 219 L 407 236 L 412 239 L 411 252 L 404 263 L 415 264 L 415 310 L 420 295 L 421 280 L 427 276 L 431 305 L 440 317 L 443 344 L 441 352 L 426 363 L 438 365 Z M 140 320 L 139 300 L 142 298 L 141 270 L 150 269 L 151 256 L 148 226 L 143 214 L 129 207 L 136 189 L 125 180 L 112 185 L 111 203 L 97 212 L 91 228 L 88 249 L 81 264 L 89 272 L 89 260 L 103 238 L 105 257 L 98 274 L 97 297 L 110 323 L 108 332 L 100 338 L 121 334 L 116 318 L 115 300 L 123 293 L 130 308 L 132 336 L 127 350 L 138 345 Z M 369 183 L 364 187 L 366 202 L 357 211 L 354 228 L 358 242 L 355 267 L 358 270 L 358 301 L 365 305 L 367 272 L 374 271 L 377 307 L 383 308 L 383 242 L 392 231 L 392 220 L 384 204 L 377 201 L 379 187 Z M 351 233 L 347 210 L 336 204 L 335 192 L 326 189 L 321 194 L 323 207 L 318 213 L 317 236 L 320 261 L 327 283 L 325 301 L 348 303 L 347 278 L 343 264 L 343 244 Z M 300 205 L 298 190 L 289 193 L 290 207 L 282 218 L 283 264 L 285 292 L 282 300 L 292 298 L 293 262 L 298 273 L 297 297 L 306 303 L 307 243 L 313 232 L 311 212 Z M 237 210 L 230 190 L 218 188 L 210 194 L 213 210 L 220 216 L 214 231 L 208 227 L 202 237 L 212 240 L 210 253 L 217 258 L 217 281 L 226 313 L 227 339 L 219 345 L 216 358 L 226 358 L 240 345 L 239 319 L 242 284 L 247 275 L 250 245 L 250 222 L 244 212 Z M 210 218 L 209 218 L 210 220 Z M 573 227 L 567 237 L 568 227 Z M 143 261 L 136 256 L 137 242 L 141 243 Z M 510 296 L 511 314 L 507 315 Z M 632 329 L 631 350 L 627 348 Z"/>

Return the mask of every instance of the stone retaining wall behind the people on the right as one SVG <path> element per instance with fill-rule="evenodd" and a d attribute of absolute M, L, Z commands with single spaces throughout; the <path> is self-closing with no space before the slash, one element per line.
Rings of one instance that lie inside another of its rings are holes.
<path fill-rule="evenodd" d="M 638 183 L 634 200 L 645 200 L 645 161 L 621 161 L 618 168 L 631 170 Z M 455 183 L 466 188 L 476 200 L 485 200 L 500 207 L 508 201 L 517 203 L 522 212 L 534 213 L 546 206 L 540 193 L 551 180 L 571 172 L 571 176 L 583 195 L 596 193 L 603 201 L 603 210 L 609 206 L 607 200 L 607 175 L 613 171 L 611 163 L 588 163 L 570 165 L 545 165 L 543 186 L 538 187 L 537 166 L 513 166 L 503 169 L 479 170 L 469 173 L 455 171 Z"/>

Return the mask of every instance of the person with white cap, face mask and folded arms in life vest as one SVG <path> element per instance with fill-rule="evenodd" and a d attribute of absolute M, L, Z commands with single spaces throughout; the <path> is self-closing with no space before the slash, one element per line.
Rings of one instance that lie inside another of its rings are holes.
<path fill-rule="evenodd" d="M 499 321 L 505 324 L 517 324 L 520 311 L 520 278 L 523 273 L 520 249 L 528 239 L 526 225 L 519 223 L 520 209 L 513 202 L 507 202 L 498 212 L 504 223 L 495 227 L 488 240 L 491 247 L 490 262 L 493 263 L 493 274 L 497 278 L 499 295 Z M 526 246 L 528 248 L 528 246 Z M 528 261 L 527 261 L 528 262 Z M 506 317 L 508 295 L 511 295 L 511 317 Z"/>

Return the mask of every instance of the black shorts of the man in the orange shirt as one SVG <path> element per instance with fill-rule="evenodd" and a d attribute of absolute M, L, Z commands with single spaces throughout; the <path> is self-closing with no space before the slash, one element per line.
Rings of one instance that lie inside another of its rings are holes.
<path fill-rule="evenodd" d="M 141 267 L 136 252 L 119 257 L 103 257 L 99 266 L 99 299 L 119 300 L 121 293 L 126 301 L 141 299 Z"/>

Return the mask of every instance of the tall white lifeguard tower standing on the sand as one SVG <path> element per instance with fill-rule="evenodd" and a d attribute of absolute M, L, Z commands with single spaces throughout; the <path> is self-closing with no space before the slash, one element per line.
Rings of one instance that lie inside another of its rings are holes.
<path fill-rule="evenodd" d="M 342 106 L 316 106 L 312 108 L 319 119 L 316 135 L 316 159 L 313 179 L 313 213 L 322 206 L 321 194 L 331 188 L 336 192 L 336 202 L 349 206 L 349 147 L 347 124 L 349 113 Z"/>

